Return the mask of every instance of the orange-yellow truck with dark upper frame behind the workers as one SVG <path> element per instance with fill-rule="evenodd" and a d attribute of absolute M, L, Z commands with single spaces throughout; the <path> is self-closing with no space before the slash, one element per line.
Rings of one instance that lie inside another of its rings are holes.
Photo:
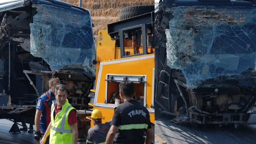
<path fill-rule="evenodd" d="M 129 17 L 129 12 L 122 13 L 129 8 L 133 10 L 130 13 L 141 8 L 140 14 Z M 148 9 L 151 10 L 146 11 Z M 108 24 L 108 30 L 98 32 L 102 40 L 97 45 L 95 89 L 90 93 L 94 101 L 89 105 L 92 110 L 102 112 L 102 123 L 111 120 L 116 107 L 114 99 L 118 98 L 118 84 L 122 80 L 131 80 L 135 85 L 134 99 L 150 112 L 154 131 L 154 6 L 130 6 L 120 11 L 120 21 Z M 80 115 L 82 120 L 85 116 Z M 90 120 L 90 114 L 86 118 Z M 93 126 L 91 121 L 90 127 Z"/>

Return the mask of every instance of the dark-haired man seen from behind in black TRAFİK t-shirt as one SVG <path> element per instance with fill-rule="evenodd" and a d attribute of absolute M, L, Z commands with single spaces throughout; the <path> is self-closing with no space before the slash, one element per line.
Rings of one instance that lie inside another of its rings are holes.
<path fill-rule="evenodd" d="M 106 144 L 151 144 L 153 132 L 148 110 L 133 100 L 134 83 L 124 80 L 119 84 L 122 104 L 115 108 Z M 146 140 L 144 132 L 146 131 Z"/>

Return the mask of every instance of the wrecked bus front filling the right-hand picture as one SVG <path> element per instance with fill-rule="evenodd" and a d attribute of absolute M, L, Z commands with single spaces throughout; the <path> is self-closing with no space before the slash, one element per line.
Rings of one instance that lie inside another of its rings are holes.
<path fill-rule="evenodd" d="M 155 16 L 157 106 L 174 121 L 256 124 L 256 1 L 158 0 Z"/>

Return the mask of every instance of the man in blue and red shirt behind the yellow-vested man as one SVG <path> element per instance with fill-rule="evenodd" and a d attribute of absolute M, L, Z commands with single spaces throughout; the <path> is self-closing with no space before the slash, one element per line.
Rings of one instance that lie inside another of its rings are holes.
<path fill-rule="evenodd" d="M 35 115 L 35 136 L 34 139 L 36 142 L 40 142 L 45 134 L 46 128 L 48 127 L 51 121 L 51 106 L 52 101 L 55 100 L 55 86 L 60 84 L 59 78 L 52 78 L 49 81 L 49 90 L 38 99 L 36 106 L 36 115 Z M 46 144 L 49 144 L 49 138 L 46 140 Z"/>

